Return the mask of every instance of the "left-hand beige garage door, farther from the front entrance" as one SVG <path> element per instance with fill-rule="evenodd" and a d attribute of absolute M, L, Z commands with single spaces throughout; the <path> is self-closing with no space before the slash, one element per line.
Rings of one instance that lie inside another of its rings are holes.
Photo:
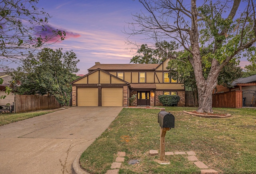
<path fill-rule="evenodd" d="M 98 88 L 77 88 L 78 106 L 98 106 Z"/>

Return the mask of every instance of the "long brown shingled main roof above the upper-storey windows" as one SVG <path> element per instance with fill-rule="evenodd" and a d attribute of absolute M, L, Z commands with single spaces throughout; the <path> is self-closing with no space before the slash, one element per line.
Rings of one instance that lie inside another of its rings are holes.
<path fill-rule="evenodd" d="M 90 67 L 88 71 L 94 71 L 98 68 L 103 70 L 154 70 L 160 64 L 96 64 Z"/>

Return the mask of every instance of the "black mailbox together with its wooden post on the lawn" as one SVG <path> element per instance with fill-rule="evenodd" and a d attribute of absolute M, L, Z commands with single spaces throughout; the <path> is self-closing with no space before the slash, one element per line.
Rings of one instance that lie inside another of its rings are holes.
<path fill-rule="evenodd" d="M 171 113 L 164 111 L 162 108 L 158 113 L 158 123 L 160 125 L 160 160 L 165 160 L 165 135 L 166 131 L 174 128 L 174 116 Z"/>

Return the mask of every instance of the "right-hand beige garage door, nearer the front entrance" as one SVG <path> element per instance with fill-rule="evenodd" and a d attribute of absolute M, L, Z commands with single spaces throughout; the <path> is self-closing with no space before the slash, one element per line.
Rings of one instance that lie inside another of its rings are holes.
<path fill-rule="evenodd" d="M 123 106 L 123 88 L 102 88 L 102 106 Z"/>

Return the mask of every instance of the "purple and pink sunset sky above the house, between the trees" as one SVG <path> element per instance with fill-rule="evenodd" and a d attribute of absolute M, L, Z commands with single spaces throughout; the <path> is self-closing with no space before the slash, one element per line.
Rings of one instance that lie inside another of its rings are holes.
<path fill-rule="evenodd" d="M 66 38 L 50 45 L 52 49 L 73 50 L 80 59 L 77 75 L 85 75 L 95 62 L 129 63 L 137 49 L 126 44 L 126 38 L 138 45 L 148 43 L 145 36 L 129 36 L 127 22 L 132 14 L 145 12 L 138 0 L 39 0 L 38 8 L 52 16 L 48 24 L 66 32 Z M 249 64 L 246 58 L 240 65 Z"/>

